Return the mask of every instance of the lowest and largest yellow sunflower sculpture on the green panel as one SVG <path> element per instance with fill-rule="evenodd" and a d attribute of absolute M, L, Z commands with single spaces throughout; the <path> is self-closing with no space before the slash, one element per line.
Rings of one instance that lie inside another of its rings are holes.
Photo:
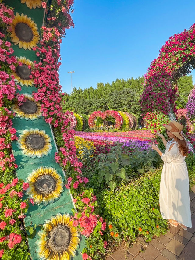
<path fill-rule="evenodd" d="M 73 227 L 69 214 L 51 216 L 45 220 L 43 228 L 37 233 L 40 239 L 36 242 L 40 259 L 71 260 L 71 256 L 76 256 L 80 233 Z"/>

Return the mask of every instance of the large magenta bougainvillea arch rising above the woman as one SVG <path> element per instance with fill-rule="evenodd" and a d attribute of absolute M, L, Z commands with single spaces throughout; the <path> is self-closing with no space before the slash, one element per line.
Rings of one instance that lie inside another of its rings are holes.
<path fill-rule="evenodd" d="M 175 119 L 176 78 L 195 68 L 195 24 L 189 30 L 174 34 L 162 46 L 157 59 L 151 63 L 144 75 L 144 91 L 140 98 L 145 112 L 161 111 Z"/>

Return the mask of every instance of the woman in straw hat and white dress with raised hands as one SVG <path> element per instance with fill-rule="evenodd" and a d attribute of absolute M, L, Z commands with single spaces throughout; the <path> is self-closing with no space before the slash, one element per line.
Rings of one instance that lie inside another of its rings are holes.
<path fill-rule="evenodd" d="M 164 127 L 167 129 L 168 137 L 173 138 L 167 142 L 157 131 L 166 147 L 165 153 L 162 153 L 154 143 L 151 145 L 164 161 L 159 195 L 161 216 L 163 219 L 169 219 L 170 225 L 177 227 L 179 224 L 187 230 L 187 227 L 192 227 L 189 177 L 185 162 L 189 148 L 185 137 L 181 134 L 183 125 L 173 120 Z"/>

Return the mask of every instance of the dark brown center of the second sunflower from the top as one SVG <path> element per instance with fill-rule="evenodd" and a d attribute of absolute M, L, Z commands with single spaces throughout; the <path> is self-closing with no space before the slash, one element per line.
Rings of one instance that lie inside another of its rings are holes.
<path fill-rule="evenodd" d="M 20 41 L 30 42 L 33 39 L 32 30 L 25 23 L 16 24 L 15 32 Z"/>

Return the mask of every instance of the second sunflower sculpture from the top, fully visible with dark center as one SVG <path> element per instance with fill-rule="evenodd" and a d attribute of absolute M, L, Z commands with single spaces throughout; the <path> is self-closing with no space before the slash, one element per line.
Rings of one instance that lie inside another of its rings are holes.
<path fill-rule="evenodd" d="M 40 36 L 37 24 L 34 23 L 30 17 L 28 18 L 27 15 L 23 13 L 20 16 L 17 12 L 10 25 L 10 37 L 14 45 L 18 44 L 19 48 L 23 47 L 25 50 L 27 48 L 31 50 L 31 48 L 37 46 Z"/>

